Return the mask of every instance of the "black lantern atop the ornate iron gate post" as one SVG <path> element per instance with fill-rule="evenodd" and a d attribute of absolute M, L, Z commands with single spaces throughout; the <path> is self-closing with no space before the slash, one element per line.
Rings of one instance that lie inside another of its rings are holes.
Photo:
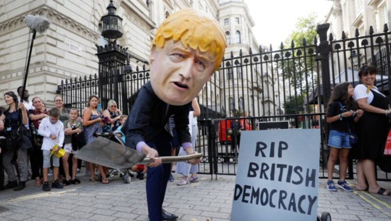
<path fill-rule="evenodd" d="M 114 6 L 113 1 L 110 0 L 109 6 L 106 8 L 108 14 L 102 16 L 102 36 L 107 39 L 117 39 L 122 36 L 122 18 L 115 15 L 117 8 Z"/>

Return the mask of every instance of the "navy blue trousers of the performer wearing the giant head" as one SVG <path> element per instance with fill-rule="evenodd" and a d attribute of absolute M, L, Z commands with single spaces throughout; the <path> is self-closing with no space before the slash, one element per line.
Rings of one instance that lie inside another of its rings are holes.
<path fill-rule="evenodd" d="M 147 144 L 157 150 L 159 156 L 171 156 L 171 139 L 171 135 L 163 131 Z M 162 221 L 162 205 L 170 173 L 171 163 L 148 167 L 146 189 L 150 221 Z"/>

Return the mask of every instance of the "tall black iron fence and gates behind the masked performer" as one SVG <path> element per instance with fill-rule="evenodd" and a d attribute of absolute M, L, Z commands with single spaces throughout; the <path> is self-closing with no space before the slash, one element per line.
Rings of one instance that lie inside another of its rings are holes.
<path fill-rule="evenodd" d="M 388 95 L 391 84 L 391 32 L 386 26 L 384 33 L 370 31 L 360 36 L 356 31 L 353 38 L 343 33 L 340 40 L 332 35 L 327 38 L 327 29 L 328 24 L 319 25 L 319 40 L 315 38 L 310 44 L 303 40 L 300 46 L 292 42 L 277 50 L 260 47 L 257 53 L 250 48 L 248 52 L 231 52 L 223 60 L 198 96 L 201 116 L 196 150 L 204 154 L 201 173 L 236 174 L 240 132 L 258 130 L 262 121 L 288 121 L 289 128 L 319 129 L 321 143 L 313 145 L 321 153 L 320 177 L 327 177 L 325 107 L 331 89 L 345 81 L 357 85 L 357 70 L 367 63 L 378 68 L 376 86 L 381 92 Z M 114 72 L 65 80 L 58 93 L 66 106 L 80 110 L 86 107 L 90 94 L 103 94 L 103 101 L 117 98 L 119 108 L 128 114 L 127 101 L 149 80 L 149 70 L 137 66 Z M 101 88 L 105 91 L 99 91 Z M 350 178 L 353 165 L 349 166 Z M 377 177 L 390 179 L 390 174 L 378 171 Z"/>

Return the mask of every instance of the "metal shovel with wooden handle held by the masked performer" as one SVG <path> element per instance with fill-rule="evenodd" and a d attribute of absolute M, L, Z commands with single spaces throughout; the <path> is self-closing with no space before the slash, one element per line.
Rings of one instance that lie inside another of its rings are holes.
<path fill-rule="evenodd" d="M 113 169 L 125 169 L 134 164 L 149 164 L 153 161 L 153 159 L 146 158 L 143 153 L 100 136 L 80 149 L 76 157 Z M 162 159 L 162 163 L 172 163 L 200 157 L 202 154 L 161 156 L 159 158 Z"/>

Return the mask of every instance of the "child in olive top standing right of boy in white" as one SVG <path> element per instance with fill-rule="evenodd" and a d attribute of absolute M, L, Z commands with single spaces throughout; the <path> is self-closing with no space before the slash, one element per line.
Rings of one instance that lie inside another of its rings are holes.
<path fill-rule="evenodd" d="M 81 134 L 83 124 L 81 121 L 78 120 L 78 110 L 76 108 L 71 108 L 69 110 L 69 120 L 64 121 L 64 150 L 65 155 L 63 156 L 63 165 L 64 165 L 64 172 L 65 172 L 65 180 L 63 182 L 63 186 L 69 185 L 69 184 L 79 184 L 80 180 L 76 178 L 76 169 L 77 169 L 77 141 L 75 139 L 82 139 L 82 137 L 77 136 L 77 134 Z M 75 146 L 75 147 L 74 147 Z M 69 155 L 73 154 L 72 157 L 72 178 L 69 176 L 69 164 L 68 164 L 68 158 Z"/>

